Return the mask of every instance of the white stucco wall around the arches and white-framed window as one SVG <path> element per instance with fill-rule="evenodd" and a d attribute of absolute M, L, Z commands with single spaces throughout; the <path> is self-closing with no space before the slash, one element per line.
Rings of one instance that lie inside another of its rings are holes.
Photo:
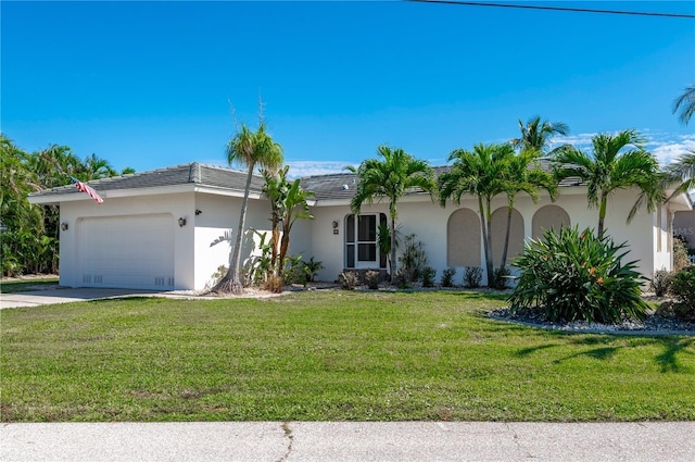
<path fill-rule="evenodd" d="M 628 242 L 627 261 L 639 260 L 637 271 L 644 276 L 650 277 L 655 270 L 671 267 L 670 244 L 668 238 L 667 211 L 662 218 L 662 228 L 657 232 L 656 214 L 648 213 L 646 209 L 641 209 L 630 224 L 627 224 L 628 213 L 636 199 L 635 191 L 618 191 L 611 196 L 607 205 L 605 229 L 616 244 Z M 586 201 L 586 189 L 581 187 L 563 188 L 558 200 L 552 202 L 547 195 L 542 195 L 538 203 L 533 203 L 531 198 L 519 195 L 515 209 L 519 211 L 523 218 L 525 239 L 528 240 L 532 234 L 533 214 L 541 207 L 554 203 L 563 208 L 569 215 L 572 226 L 580 229 L 590 227 L 594 232 L 598 226 L 598 209 L 589 208 Z M 459 208 L 467 208 L 478 214 L 478 201 L 473 197 L 465 196 L 460 204 L 448 202 L 442 208 L 437 202 L 432 202 L 427 196 L 406 197 L 397 204 L 401 235 L 415 234 L 416 239 L 425 244 L 425 252 L 428 264 L 437 270 L 439 279 L 442 271 L 446 269 L 446 224 L 450 215 Z M 492 201 L 492 211 L 498 208 L 506 209 L 504 197 L 495 198 Z M 363 213 L 386 213 L 387 202 L 376 202 L 372 205 L 365 204 Z M 312 254 L 320 260 L 326 266 L 319 273 L 321 280 L 334 280 L 337 275 L 343 270 L 344 253 L 344 217 L 350 214 L 350 207 L 330 205 L 315 207 L 313 213 L 316 220 L 312 223 Z M 506 216 L 506 215 L 505 215 Z M 340 224 L 339 235 L 331 232 L 331 222 L 336 220 Z M 657 251 L 656 236 L 662 239 L 661 250 Z M 480 266 L 484 272 L 484 247 L 481 241 Z M 400 257 L 400 253 L 399 253 Z M 514 255 L 508 257 L 508 262 Z M 495 267 L 500 262 L 494 262 Z M 456 274 L 456 282 L 460 283 L 463 277 L 462 269 Z M 484 276 L 483 276 L 484 277 Z M 483 279 L 483 283 L 485 279 Z"/>

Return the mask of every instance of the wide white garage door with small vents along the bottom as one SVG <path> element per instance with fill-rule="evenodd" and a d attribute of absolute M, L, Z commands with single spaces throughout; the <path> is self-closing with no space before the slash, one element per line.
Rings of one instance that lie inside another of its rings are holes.
<path fill-rule="evenodd" d="M 78 261 L 84 287 L 174 288 L 170 214 L 84 218 Z"/>

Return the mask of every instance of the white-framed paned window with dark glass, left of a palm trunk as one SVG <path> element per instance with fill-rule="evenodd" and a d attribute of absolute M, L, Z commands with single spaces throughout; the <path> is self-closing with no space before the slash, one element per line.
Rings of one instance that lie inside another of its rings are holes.
<path fill-rule="evenodd" d="M 379 254 L 377 245 L 377 216 L 387 225 L 387 215 L 345 216 L 345 267 L 386 267 L 386 255 Z"/>

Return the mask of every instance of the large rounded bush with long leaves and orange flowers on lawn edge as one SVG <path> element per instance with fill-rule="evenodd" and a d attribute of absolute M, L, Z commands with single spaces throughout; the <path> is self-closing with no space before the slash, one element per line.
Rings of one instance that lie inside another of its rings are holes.
<path fill-rule="evenodd" d="M 514 263 L 521 275 L 508 297 L 510 310 L 540 310 L 553 322 L 643 319 L 648 305 L 640 285 L 646 279 L 634 270 L 635 262 L 622 263 L 626 247 L 591 229 L 546 230 Z"/>

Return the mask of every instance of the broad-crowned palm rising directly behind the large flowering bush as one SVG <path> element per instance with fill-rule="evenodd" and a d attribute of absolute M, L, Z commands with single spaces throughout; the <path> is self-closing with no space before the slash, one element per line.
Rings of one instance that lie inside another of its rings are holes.
<path fill-rule="evenodd" d="M 644 149 L 644 138 L 635 130 L 627 129 L 617 135 L 599 134 L 594 136 L 592 145 L 593 155 L 566 146 L 558 151 L 553 161 L 558 179 L 579 177 L 586 184 L 589 204 L 599 208 L 597 234 L 602 237 L 606 204 L 608 196 L 612 192 L 618 189 L 640 188 L 640 198 L 628 215 L 630 222 L 644 202 L 649 212 L 656 210 L 664 201 L 664 191 L 659 187 L 659 164 L 655 157 Z"/>

